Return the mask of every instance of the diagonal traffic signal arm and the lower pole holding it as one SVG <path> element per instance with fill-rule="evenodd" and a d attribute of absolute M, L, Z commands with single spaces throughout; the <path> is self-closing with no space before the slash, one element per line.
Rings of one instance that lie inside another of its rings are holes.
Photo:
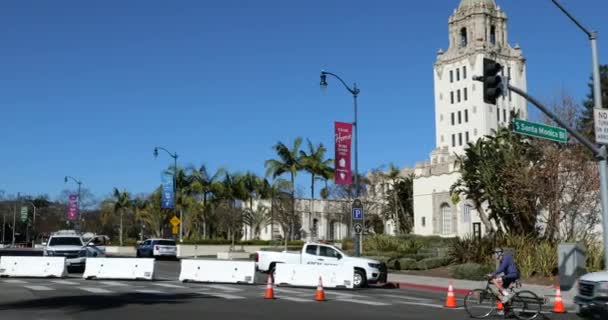
<path fill-rule="evenodd" d="M 474 77 L 474 80 L 484 81 L 484 77 Z M 507 84 L 507 88 L 516 94 L 522 96 L 530 103 L 535 105 L 540 111 L 547 115 L 551 120 L 555 121 L 561 127 L 566 129 L 576 140 L 582 143 L 587 149 L 593 152 L 593 155 L 598 161 L 598 167 L 600 171 L 600 204 L 602 206 L 602 224 L 603 224 L 603 238 L 604 238 L 604 269 L 608 270 L 608 152 L 606 146 L 602 145 L 599 148 L 585 136 L 574 130 L 564 121 L 562 121 L 557 115 L 545 107 L 542 103 L 536 100 L 534 97 L 528 95 L 523 90 L 516 88 L 510 84 Z"/>

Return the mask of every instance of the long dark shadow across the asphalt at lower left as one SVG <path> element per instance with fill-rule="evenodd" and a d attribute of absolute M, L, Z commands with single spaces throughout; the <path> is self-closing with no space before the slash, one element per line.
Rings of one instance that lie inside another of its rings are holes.
<path fill-rule="evenodd" d="M 120 308 L 127 305 L 175 305 L 200 299 L 220 299 L 205 294 L 155 294 L 155 293 L 122 293 L 116 295 L 72 295 L 47 297 L 0 304 L 0 311 L 27 309 L 62 309 L 67 313 L 100 311 Z"/>

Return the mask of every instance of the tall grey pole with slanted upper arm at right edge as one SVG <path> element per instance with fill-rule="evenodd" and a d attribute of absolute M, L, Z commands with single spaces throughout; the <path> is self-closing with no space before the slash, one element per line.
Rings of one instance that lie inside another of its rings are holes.
<path fill-rule="evenodd" d="M 562 6 L 557 0 L 551 0 L 553 3 L 574 22 L 586 35 L 589 37 L 589 41 L 591 41 L 591 59 L 593 64 L 593 101 L 594 107 L 596 109 L 602 108 L 602 92 L 601 92 L 601 84 L 600 84 L 600 64 L 598 61 L 598 53 L 597 53 L 597 32 L 590 31 L 585 28 L 576 18 L 571 15 L 564 6 Z M 600 170 L 600 202 L 602 205 L 602 222 L 604 229 L 604 265 L 606 270 L 608 270 L 608 152 L 606 150 L 606 146 L 602 145 L 599 148 L 600 159 L 598 162 L 599 170 Z"/>

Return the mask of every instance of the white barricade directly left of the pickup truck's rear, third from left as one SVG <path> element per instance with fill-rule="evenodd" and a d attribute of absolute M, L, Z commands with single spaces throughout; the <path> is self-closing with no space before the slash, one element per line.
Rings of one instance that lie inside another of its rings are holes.
<path fill-rule="evenodd" d="M 253 283 L 255 262 L 182 259 L 180 281 Z"/>

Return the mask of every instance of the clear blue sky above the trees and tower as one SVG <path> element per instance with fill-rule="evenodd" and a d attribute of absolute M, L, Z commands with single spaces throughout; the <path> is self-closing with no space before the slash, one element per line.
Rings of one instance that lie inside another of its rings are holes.
<path fill-rule="evenodd" d="M 171 163 L 156 145 L 180 165 L 258 174 L 297 136 L 333 157 L 352 98 L 334 79 L 322 94 L 322 68 L 361 88 L 360 169 L 413 166 L 434 147 L 433 63 L 459 2 L 2 1 L 0 190 L 55 198 L 71 175 L 97 197 L 150 192 Z M 586 36 L 550 0 L 498 3 L 529 92 L 581 101 Z M 562 3 L 608 63 L 608 3 Z"/>

